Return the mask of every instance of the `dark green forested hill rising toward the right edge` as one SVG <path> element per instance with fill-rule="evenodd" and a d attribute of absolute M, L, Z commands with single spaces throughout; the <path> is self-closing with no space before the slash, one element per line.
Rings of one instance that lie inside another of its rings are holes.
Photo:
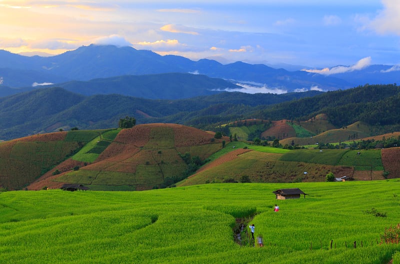
<path fill-rule="evenodd" d="M 400 86 L 364 85 L 348 90 L 328 91 L 312 97 L 287 101 L 269 107 L 257 106 L 256 118 L 306 120 L 326 113 L 337 127 L 355 121 L 372 125 L 400 124 Z"/>

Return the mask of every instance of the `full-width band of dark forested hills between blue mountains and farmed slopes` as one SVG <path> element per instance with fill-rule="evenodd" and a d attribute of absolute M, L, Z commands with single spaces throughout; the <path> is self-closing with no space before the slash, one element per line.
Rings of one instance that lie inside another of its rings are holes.
<path fill-rule="evenodd" d="M 201 129 L 235 120 L 306 120 L 326 113 L 336 127 L 355 121 L 400 124 L 400 87 L 365 85 L 329 92 L 247 94 L 222 92 L 180 100 L 151 100 L 119 94 L 83 96 L 62 88 L 42 88 L 0 98 L 0 139 L 33 133 L 117 127 L 118 120 L 134 116 L 136 123 L 169 122 Z M 383 129 L 383 130 L 384 130 Z"/>

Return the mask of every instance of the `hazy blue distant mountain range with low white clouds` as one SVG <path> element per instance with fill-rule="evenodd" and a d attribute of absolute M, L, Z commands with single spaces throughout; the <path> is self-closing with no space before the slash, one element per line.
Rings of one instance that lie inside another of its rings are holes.
<path fill-rule="evenodd" d="M 166 73 L 191 73 L 185 76 L 188 87 L 177 85 L 182 83 L 179 78 L 183 75 L 156 76 Z M 182 90 L 190 89 L 198 82 L 200 77 L 194 76 L 197 74 L 208 76 L 208 82 L 201 83 L 202 89 L 182 94 Z M 28 57 L 0 50 L 0 96 L 50 84 L 84 95 L 121 93 L 143 98 L 166 98 L 165 94 L 169 94 L 169 99 L 177 99 L 205 95 L 205 90 L 209 91 L 208 94 L 223 90 L 250 93 L 284 93 L 310 89 L 327 91 L 365 83 L 396 83 L 399 78 L 395 65 L 369 65 L 358 70 L 322 75 L 240 61 L 230 64 L 221 64 L 211 59 L 193 61 L 181 56 L 161 56 L 150 50 L 113 45 L 91 44 L 49 57 Z M 215 83 L 211 84 L 212 81 Z"/>

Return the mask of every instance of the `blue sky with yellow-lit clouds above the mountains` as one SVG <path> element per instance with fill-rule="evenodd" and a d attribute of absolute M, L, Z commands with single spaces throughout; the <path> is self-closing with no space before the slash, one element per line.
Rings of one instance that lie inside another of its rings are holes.
<path fill-rule="evenodd" d="M 0 0 L 0 29 L 13 53 L 95 43 L 325 74 L 400 64 L 400 0 Z"/>

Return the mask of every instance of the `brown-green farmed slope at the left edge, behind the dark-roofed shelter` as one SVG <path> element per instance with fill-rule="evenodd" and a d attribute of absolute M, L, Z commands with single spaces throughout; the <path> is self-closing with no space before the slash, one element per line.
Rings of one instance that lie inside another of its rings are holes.
<path fill-rule="evenodd" d="M 26 187 L 103 131 L 62 131 L 0 142 L 0 187 Z"/>

